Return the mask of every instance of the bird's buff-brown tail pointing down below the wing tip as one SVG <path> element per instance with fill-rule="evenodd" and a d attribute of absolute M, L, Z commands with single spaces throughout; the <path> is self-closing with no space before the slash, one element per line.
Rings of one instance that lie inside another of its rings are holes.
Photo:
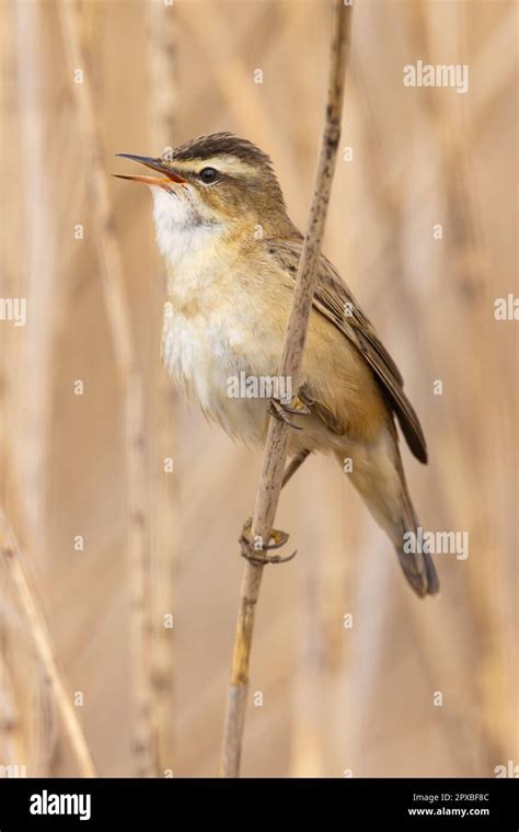
<path fill-rule="evenodd" d="M 418 522 L 405 482 L 396 442 L 350 453 L 349 478 L 372 516 L 389 535 L 402 570 L 419 597 L 439 592 L 438 574 L 428 552 L 416 549 Z M 343 465 L 343 455 L 337 454 Z"/>

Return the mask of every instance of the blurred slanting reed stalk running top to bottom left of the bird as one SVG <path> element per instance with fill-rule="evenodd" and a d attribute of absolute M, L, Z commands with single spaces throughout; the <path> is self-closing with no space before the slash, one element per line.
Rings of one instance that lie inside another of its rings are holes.
<path fill-rule="evenodd" d="M 150 721 L 150 563 L 142 384 L 131 332 L 123 260 L 114 230 L 107 172 L 102 161 L 80 5 L 76 0 L 62 0 L 59 12 L 71 77 L 73 78 L 77 70 L 83 71 L 82 83 L 73 84 L 73 89 L 77 92 L 81 137 L 89 153 L 94 238 L 102 265 L 106 314 L 123 390 L 135 699 L 131 755 L 136 774 L 146 777 L 154 774 L 154 770 L 151 759 L 153 732 Z"/>

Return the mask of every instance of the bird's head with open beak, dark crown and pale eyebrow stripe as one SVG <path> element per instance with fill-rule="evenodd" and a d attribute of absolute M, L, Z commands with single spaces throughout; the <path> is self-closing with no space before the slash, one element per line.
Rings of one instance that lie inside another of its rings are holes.
<path fill-rule="evenodd" d="M 231 133 L 200 136 L 159 159 L 119 156 L 160 174 L 116 175 L 151 187 L 163 253 L 169 237 L 184 230 L 257 239 L 282 237 L 293 228 L 269 157 Z"/>

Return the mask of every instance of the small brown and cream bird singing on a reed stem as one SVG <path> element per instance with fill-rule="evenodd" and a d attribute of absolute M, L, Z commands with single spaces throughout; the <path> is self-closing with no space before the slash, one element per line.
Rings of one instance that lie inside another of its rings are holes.
<path fill-rule="evenodd" d="M 343 469 L 349 460 L 348 477 L 392 542 L 412 589 L 419 597 L 437 594 L 429 552 L 405 545 L 418 520 L 395 420 L 426 464 L 424 433 L 395 362 L 324 254 L 299 389 L 288 391 L 290 400 L 273 395 L 268 402 L 258 387 L 256 395 L 230 395 L 237 378 L 276 377 L 303 244 L 270 157 L 227 132 L 163 157 L 117 156 L 159 174 L 114 175 L 148 185 L 153 196 L 166 264 L 162 361 L 172 381 L 247 446 L 265 442 L 270 417 L 286 421 L 293 469 L 314 452 L 334 455 Z"/>

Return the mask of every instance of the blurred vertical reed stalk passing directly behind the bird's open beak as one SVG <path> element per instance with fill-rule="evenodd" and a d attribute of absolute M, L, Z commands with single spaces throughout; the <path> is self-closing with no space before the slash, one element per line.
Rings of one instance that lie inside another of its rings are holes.
<path fill-rule="evenodd" d="M 174 144 L 176 117 L 176 14 L 171 5 L 152 3 L 148 18 L 150 68 L 151 145 L 164 149 Z M 157 281 L 162 286 L 161 281 Z M 157 292 L 159 299 L 159 290 Z M 159 304 L 158 304 L 159 306 Z M 158 321 L 158 331 L 160 323 Z M 174 743 L 174 630 L 166 627 L 165 615 L 173 615 L 177 579 L 177 480 L 175 472 L 164 471 L 164 459 L 174 459 L 174 387 L 162 363 L 154 362 L 151 391 L 154 437 L 151 488 L 153 499 L 153 546 L 151 548 L 151 721 L 157 771 L 173 770 Z"/>

